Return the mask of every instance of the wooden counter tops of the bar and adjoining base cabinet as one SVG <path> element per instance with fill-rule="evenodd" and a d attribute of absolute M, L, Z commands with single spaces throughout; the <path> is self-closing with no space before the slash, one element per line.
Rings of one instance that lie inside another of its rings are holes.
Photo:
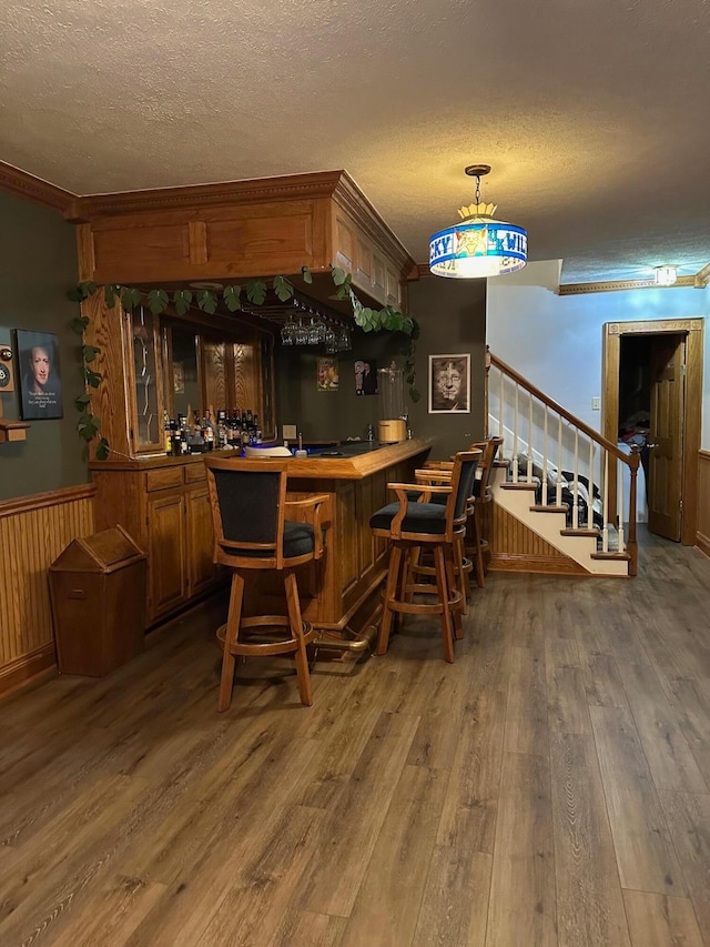
<path fill-rule="evenodd" d="M 407 461 L 424 451 L 430 450 L 432 437 L 413 437 L 395 444 L 381 444 L 377 441 L 343 441 L 326 446 L 307 457 L 293 457 L 288 465 L 290 477 L 308 480 L 364 480 L 402 461 Z M 233 457 L 241 463 L 244 457 L 235 456 L 235 451 L 211 451 L 209 454 L 186 454 L 180 457 L 153 455 L 145 457 L 124 457 L 121 460 L 92 461 L 92 471 L 148 471 L 185 464 L 201 464 L 207 456 Z"/>

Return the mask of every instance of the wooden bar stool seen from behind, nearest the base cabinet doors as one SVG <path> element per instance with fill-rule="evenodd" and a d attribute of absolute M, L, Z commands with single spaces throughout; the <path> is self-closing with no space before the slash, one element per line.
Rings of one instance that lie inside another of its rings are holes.
<path fill-rule="evenodd" d="M 321 508 L 327 496 L 287 501 L 288 463 L 276 457 L 205 457 L 214 558 L 233 571 L 226 624 L 217 629 L 223 646 L 220 711 L 232 703 L 237 655 L 293 654 L 301 702 L 313 704 L 306 645 L 315 633 L 303 621 L 294 570 L 323 555 Z M 291 511 L 308 515 L 311 522 L 286 520 Z M 287 615 L 242 615 L 244 582 L 254 570 L 283 574 Z"/>

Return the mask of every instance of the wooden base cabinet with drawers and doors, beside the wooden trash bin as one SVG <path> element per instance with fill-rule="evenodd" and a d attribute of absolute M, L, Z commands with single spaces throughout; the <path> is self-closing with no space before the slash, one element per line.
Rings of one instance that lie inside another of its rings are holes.
<path fill-rule="evenodd" d="M 214 587 L 202 456 L 95 462 L 97 528 L 121 525 L 148 555 L 146 627 Z"/>

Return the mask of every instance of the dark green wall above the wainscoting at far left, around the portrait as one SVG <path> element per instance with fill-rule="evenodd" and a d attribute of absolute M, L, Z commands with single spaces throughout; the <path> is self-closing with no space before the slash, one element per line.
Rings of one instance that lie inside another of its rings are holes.
<path fill-rule="evenodd" d="M 85 483 L 87 452 L 77 434 L 82 393 L 78 314 L 67 290 L 77 282 L 74 228 L 58 211 L 0 192 L 0 341 L 13 329 L 59 340 L 64 416 L 32 421 L 27 440 L 0 444 L 0 500 Z M 14 363 L 16 380 L 19 366 Z M 0 395 L 6 417 L 19 419 L 19 392 Z"/>

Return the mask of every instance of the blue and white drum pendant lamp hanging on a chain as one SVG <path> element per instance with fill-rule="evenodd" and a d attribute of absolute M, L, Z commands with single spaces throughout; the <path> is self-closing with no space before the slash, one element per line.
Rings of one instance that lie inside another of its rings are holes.
<path fill-rule="evenodd" d="M 528 258 L 528 235 L 521 226 L 494 220 L 495 204 L 480 203 L 480 179 L 490 164 L 469 164 L 476 179 L 476 203 L 459 208 L 462 222 L 439 230 L 429 241 L 429 270 L 435 276 L 473 280 L 504 276 L 523 269 Z"/>

